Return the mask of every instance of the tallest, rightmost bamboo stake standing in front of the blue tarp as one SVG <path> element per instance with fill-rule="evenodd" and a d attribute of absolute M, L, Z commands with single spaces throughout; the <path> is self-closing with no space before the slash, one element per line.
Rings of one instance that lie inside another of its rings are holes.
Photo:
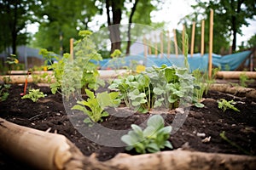
<path fill-rule="evenodd" d="M 213 10 L 210 14 L 210 36 L 209 36 L 209 78 L 212 78 L 212 41 L 213 41 Z"/>

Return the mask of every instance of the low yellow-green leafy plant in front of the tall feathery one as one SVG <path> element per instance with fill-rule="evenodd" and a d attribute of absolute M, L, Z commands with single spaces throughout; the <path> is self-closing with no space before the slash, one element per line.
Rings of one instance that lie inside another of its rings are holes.
<path fill-rule="evenodd" d="M 112 92 L 109 94 L 107 92 L 103 92 L 95 96 L 95 94 L 89 89 L 85 89 L 85 93 L 87 94 L 88 99 L 86 101 L 78 101 L 77 103 L 79 105 L 74 105 L 72 110 L 83 111 L 84 114 L 88 115 L 90 118 L 84 119 L 84 122 L 87 123 L 90 123 L 91 121 L 102 122 L 102 117 L 109 115 L 107 111 L 104 111 L 104 108 L 108 106 L 116 107 L 120 103 L 120 100 L 117 99 L 117 97 L 119 96 L 118 92 Z M 90 110 L 86 107 L 89 107 Z"/>

